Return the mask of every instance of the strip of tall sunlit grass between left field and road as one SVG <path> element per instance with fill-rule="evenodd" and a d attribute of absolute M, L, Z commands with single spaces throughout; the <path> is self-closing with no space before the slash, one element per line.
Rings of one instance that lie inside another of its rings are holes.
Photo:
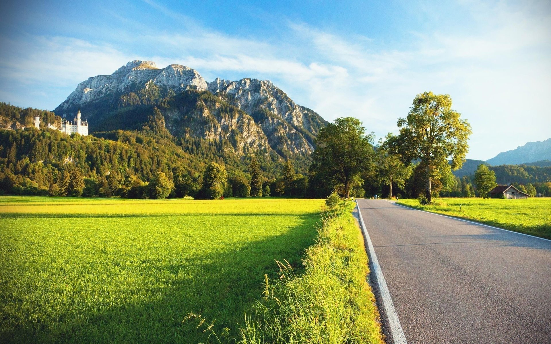
<path fill-rule="evenodd" d="M 262 298 L 246 314 L 240 343 L 383 343 L 353 204 L 322 220 L 300 276 L 278 263 Z"/>

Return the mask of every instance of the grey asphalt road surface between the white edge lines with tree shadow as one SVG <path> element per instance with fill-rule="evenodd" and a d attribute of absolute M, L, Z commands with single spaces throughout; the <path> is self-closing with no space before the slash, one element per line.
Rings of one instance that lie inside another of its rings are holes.
<path fill-rule="evenodd" d="M 408 343 L 551 343 L 551 241 L 358 205 Z"/>

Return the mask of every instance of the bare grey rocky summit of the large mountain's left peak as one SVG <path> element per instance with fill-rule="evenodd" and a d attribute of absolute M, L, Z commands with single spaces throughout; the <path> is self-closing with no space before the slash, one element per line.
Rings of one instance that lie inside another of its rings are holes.
<path fill-rule="evenodd" d="M 78 84 L 57 110 L 67 110 L 87 103 L 112 99 L 143 87 L 148 82 L 175 91 L 196 88 L 199 91 L 208 89 L 207 82 L 195 69 L 185 65 L 171 64 L 159 69 L 152 61 L 132 61 L 116 70 L 111 75 L 97 75 Z"/>

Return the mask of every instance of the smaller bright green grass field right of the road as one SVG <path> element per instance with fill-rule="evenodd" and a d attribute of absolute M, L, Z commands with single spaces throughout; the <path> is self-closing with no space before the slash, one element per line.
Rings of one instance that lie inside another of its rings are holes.
<path fill-rule="evenodd" d="M 551 239 L 551 198 L 440 198 L 437 201 L 440 205 L 420 205 L 418 199 L 401 199 L 398 203 Z"/>

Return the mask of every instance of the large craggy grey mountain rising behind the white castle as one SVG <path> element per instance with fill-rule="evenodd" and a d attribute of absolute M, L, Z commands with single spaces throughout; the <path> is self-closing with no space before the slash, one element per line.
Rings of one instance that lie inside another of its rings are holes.
<path fill-rule="evenodd" d="M 71 118 L 82 112 L 90 132 L 147 125 L 156 118 L 176 138 L 218 141 L 220 149 L 244 155 L 276 152 L 285 159 L 309 159 L 314 138 L 327 124 L 297 105 L 271 81 L 216 79 L 207 83 L 196 70 L 151 61 L 132 61 L 111 75 L 97 75 L 77 86 L 54 112 Z"/>

